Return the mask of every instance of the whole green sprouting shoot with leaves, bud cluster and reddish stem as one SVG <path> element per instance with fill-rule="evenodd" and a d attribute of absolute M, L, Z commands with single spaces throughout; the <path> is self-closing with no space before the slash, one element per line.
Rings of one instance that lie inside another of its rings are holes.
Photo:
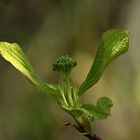
<path fill-rule="evenodd" d="M 100 97 L 95 105 L 82 104 L 80 96 L 95 85 L 101 78 L 105 68 L 118 56 L 128 50 L 128 32 L 123 30 L 108 30 L 103 33 L 95 59 L 87 77 L 76 88 L 70 84 L 70 72 L 77 62 L 68 55 L 59 57 L 53 63 L 53 70 L 59 73 L 56 85 L 44 82 L 33 70 L 29 60 L 21 47 L 16 43 L 0 42 L 0 54 L 17 70 L 28 78 L 41 92 L 54 99 L 58 105 L 75 120 L 74 126 L 80 133 L 90 140 L 101 140 L 92 131 L 92 125 L 97 120 L 111 116 L 112 101 L 108 97 Z"/>

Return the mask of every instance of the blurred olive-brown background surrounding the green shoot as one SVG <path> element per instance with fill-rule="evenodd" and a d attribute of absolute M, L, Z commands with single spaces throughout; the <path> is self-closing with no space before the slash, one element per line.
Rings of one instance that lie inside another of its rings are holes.
<path fill-rule="evenodd" d="M 96 122 L 103 140 L 140 139 L 139 0 L 0 0 L 0 41 L 20 44 L 36 72 L 57 82 L 52 63 L 69 54 L 78 62 L 71 79 L 78 87 L 93 62 L 101 34 L 111 28 L 130 32 L 129 52 L 105 70 L 81 97 L 95 104 L 114 102 L 112 116 Z M 71 117 L 39 93 L 16 69 L 0 59 L 0 140 L 86 140 L 65 127 Z"/>

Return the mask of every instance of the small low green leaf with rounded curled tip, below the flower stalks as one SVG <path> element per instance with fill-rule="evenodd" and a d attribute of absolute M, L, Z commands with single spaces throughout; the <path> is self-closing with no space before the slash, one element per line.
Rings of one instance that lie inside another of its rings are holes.
<path fill-rule="evenodd" d="M 107 117 L 111 116 L 112 106 L 112 101 L 107 97 L 100 97 L 96 106 L 91 104 L 84 104 L 80 107 L 67 107 L 61 105 L 61 107 L 74 118 L 87 116 L 91 122 L 95 120 L 106 119 Z"/>

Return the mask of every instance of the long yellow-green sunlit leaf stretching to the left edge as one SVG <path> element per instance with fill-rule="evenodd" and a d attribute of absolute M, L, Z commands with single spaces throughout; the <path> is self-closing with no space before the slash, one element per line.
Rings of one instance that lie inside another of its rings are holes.
<path fill-rule="evenodd" d="M 46 84 L 34 72 L 21 47 L 16 43 L 0 42 L 0 54 L 18 69 L 27 79 L 35 84 L 42 92 L 56 98 L 57 91 L 53 85 Z"/>

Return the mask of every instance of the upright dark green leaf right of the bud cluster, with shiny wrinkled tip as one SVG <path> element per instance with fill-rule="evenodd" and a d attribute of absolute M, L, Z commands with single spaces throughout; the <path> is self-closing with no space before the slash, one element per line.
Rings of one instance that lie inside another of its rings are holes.
<path fill-rule="evenodd" d="M 121 30 L 109 30 L 103 33 L 101 43 L 96 53 L 95 60 L 81 84 L 78 94 L 83 94 L 101 78 L 108 64 L 128 50 L 128 32 Z"/>

